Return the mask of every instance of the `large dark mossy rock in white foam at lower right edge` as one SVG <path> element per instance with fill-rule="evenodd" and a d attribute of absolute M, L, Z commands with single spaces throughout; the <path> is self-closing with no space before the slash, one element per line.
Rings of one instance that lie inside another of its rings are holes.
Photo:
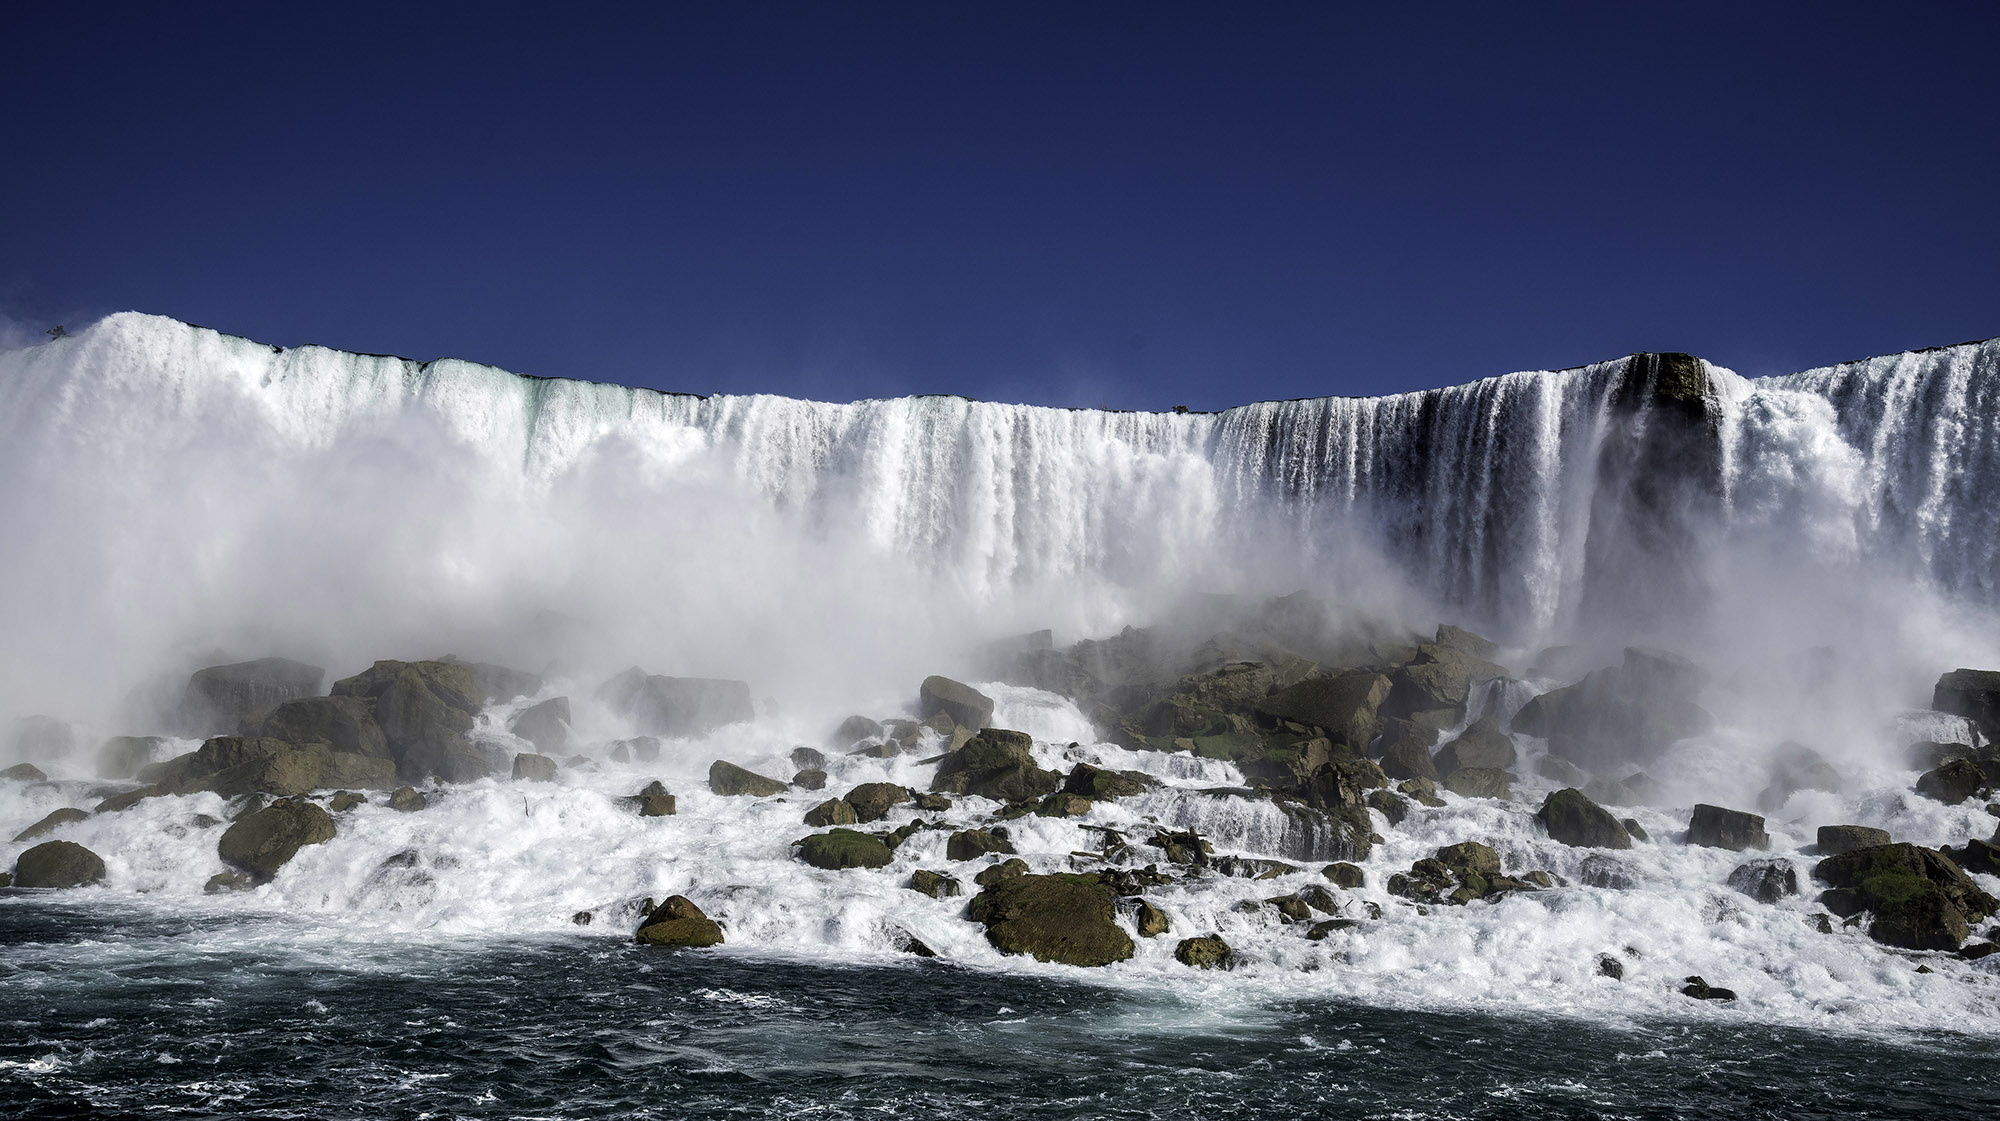
<path fill-rule="evenodd" d="M 1840 917 L 1872 911 L 1868 937 L 1902 949 L 1958 949 L 1970 925 L 2000 903 L 1946 855 L 1916 845 L 1876 845 L 1814 865 L 1830 885 L 1820 905 Z"/>

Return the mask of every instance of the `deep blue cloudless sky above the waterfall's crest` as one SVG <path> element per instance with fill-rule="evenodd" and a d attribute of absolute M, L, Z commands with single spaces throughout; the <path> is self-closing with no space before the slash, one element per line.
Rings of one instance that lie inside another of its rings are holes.
<path fill-rule="evenodd" d="M 0 312 L 1126 408 L 2000 334 L 1996 4 L 306 8 L 10 6 Z"/>

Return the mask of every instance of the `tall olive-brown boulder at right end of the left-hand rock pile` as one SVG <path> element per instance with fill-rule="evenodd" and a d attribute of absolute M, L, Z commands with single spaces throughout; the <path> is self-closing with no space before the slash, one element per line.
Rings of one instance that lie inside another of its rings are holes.
<path fill-rule="evenodd" d="M 470 783 L 494 771 L 486 753 L 466 739 L 474 717 L 484 711 L 484 693 L 460 663 L 378 661 L 336 681 L 332 693 L 372 703 L 396 759 L 396 775 L 406 783 L 430 777 Z"/>

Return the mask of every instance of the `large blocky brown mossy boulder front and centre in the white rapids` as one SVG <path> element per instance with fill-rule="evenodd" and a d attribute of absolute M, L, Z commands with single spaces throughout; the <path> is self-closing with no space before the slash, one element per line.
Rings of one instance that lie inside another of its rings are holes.
<path fill-rule="evenodd" d="M 1096 877 L 1020 875 L 986 885 L 968 913 L 986 923 L 1000 953 L 1062 965 L 1110 965 L 1132 957 L 1132 937 L 1112 921 L 1112 893 Z"/>

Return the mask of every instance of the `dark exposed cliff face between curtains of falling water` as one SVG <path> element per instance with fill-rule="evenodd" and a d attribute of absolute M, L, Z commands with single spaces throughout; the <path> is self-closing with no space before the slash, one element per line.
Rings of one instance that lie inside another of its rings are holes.
<path fill-rule="evenodd" d="M 1634 354 L 1606 408 L 1582 619 L 1648 629 L 1708 593 L 1702 544 L 1722 520 L 1722 408 L 1692 354 Z"/>

